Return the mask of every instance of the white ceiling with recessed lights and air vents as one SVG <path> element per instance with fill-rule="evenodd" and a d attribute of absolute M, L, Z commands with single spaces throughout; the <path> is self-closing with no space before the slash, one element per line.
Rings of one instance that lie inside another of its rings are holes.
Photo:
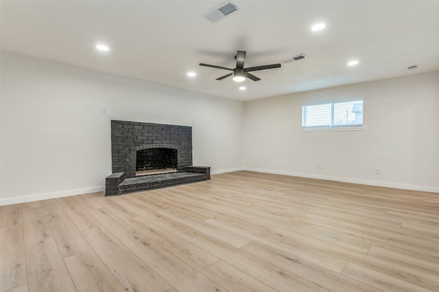
<path fill-rule="evenodd" d="M 211 23 L 203 14 L 226 2 L 1 1 L 1 49 L 237 100 L 439 70 L 439 1 L 232 2 L 239 10 Z M 235 68 L 237 50 L 246 67 L 309 58 L 240 84 L 198 66 Z"/>

